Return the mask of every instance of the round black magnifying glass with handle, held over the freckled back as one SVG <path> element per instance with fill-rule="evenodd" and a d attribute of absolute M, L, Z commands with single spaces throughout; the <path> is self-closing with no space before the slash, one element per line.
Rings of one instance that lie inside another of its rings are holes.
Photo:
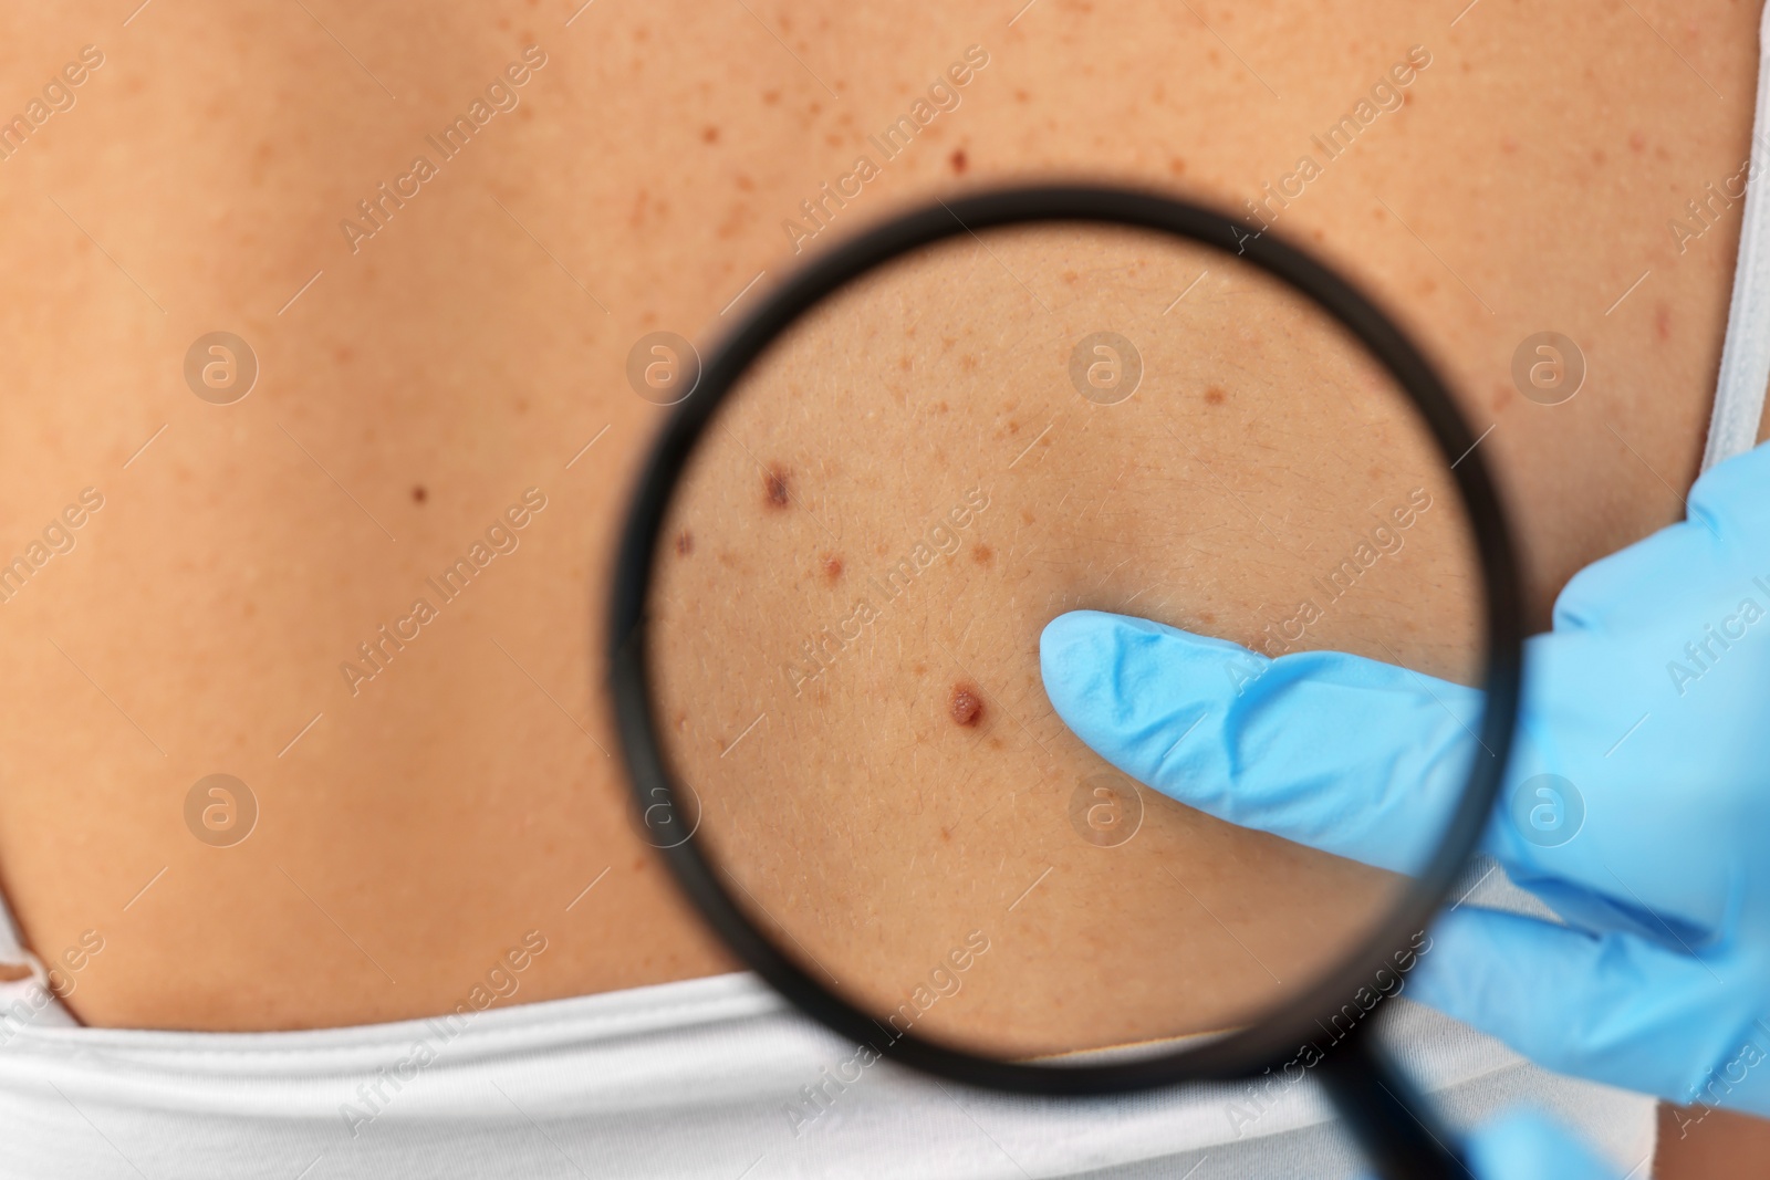
<path fill-rule="evenodd" d="M 885 1058 L 1043 1095 L 1315 1076 L 1382 1175 L 1460 1176 L 1366 1033 L 1515 720 L 1474 442 L 1375 304 L 1221 212 L 1016 188 L 873 228 L 731 333 L 641 476 L 611 674 L 646 837 Z M 1384 872 L 1101 761 L 1039 674 L 1080 609 L 1234 640 L 1237 693 L 1248 651 L 1306 649 L 1485 688 L 1432 856 Z"/>

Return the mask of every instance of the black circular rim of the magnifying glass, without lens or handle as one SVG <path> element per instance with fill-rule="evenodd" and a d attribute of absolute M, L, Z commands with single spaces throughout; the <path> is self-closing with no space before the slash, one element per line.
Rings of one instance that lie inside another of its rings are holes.
<path fill-rule="evenodd" d="M 1395 955 L 1414 952 L 1423 931 L 1481 835 L 1504 773 L 1517 722 L 1522 672 L 1522 609 L 1517 559 L 1494 483 L 1476 449 L 1476 437 L 1451 403 L 1435 368 L 1377 306 L 1324 264 L 1273 235 L 1209 207 L 1158 193 L 1096 186 L 1028 186 L 984 191 L 938 202 L 897 216 L 832 248 L 770 292 L 731 331 L 701 370 L 694 395 L 676 407 L 651 451 L 634 492 L 614 570 L 609 616 L 609 678 L 614 692 L 621 754 L 641 812 L 660 800 L 674 805 L 660 727 L 651 708 L 646 669 L 646 600 L 658 533 L 696 442 L 749 366 L 805 311 L 862 274 L 910 251 L 979 230 L 1032 223 L 1092 223 L 1168 234 L 1237 255 L 1281 283 L 1301 290 L 1335 317 L 1400 382 L 1437 442 L 1474 529 L 1481 563 L 1487 619 L 1487 702 L 1480 739 L 1489 757 L 1471 764 L 1467 789 L 1444 833 L 1437 856 L 1391 909 L 1386 922 L 1345 955 L 1306 994 L 1257 1024 L 1195 1049 L 1140 1060 L 1089 1065 L 1034 1065 L 979 1056 L 913 1033 L 892 1037 L 878 1021 L 827 989 L 784 954 L 733 900 L 719 872 L 690 837 L 660 849 L 664 860 L 713 931 L 758 975 L 800 1010 L 844 1038 L 959 1083 L 1043 1095 L 1122 1093 L 1186 1081 L 1221 1081 L 1257 1074 L 1294 1056 L 1326 1028 L 1359 987 L 1375 989 L 1379 968 L 1395 969 Z M 687 812 L 681 812 L 687 814 Z M 1359 1021 L 1361 1035 L 1370 1021 Z"/>

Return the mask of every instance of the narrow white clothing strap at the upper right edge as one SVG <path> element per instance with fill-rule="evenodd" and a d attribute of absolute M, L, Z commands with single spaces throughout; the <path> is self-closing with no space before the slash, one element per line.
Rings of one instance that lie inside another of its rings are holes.
<path fill-rule="evenodd" d="M 1758 110 L 1752 115 L 1752 163 L 1745 184 L 1745 221 L 1733 267 L 1733 306 L 1720 347 L 1715 409 L 1708 419 L 1703 471 L 1758 444 L 1758 421 L 1770 382 L 1770 212 L 1765 177 L 1770 172 L 1770 5 L 1758 21 Z"/>

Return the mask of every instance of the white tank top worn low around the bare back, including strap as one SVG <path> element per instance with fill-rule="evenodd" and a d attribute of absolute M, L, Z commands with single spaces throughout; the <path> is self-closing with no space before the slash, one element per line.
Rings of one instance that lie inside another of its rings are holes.
<path fill-rule="evenodd" d="M 1752 177 L 1770 168 L 1770 7 L 1759 27 Z M 1770 214 L 1745 196 L 1703 467 L 1752 448 L 1770 382 Z M 1471 904 L 1547 915 L 1492 862 Z M 292 1033 L 81 1028 L 0 899 L 0 1178 L 536 1180 L 681 1176 L 1354 1176 L 1356 1146 L 1310 1083 L 1101 1100 L 963 1090 L 890 1065 L 793 1012 L 752 975 L 635 987 L 471 1017 Z M 1650 1097 L 1558 1077 L 1400 998 L 1377 1026 L 1444 1118 L 1535 1104 L 1628 1180 L 1655 1148 Z"/>

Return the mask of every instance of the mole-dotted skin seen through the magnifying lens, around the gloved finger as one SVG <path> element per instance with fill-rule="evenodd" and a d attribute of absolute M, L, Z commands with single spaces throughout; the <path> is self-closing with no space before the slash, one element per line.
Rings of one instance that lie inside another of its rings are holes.
<path fill-rule="evenodd" d="M 1271 1010 L 1400 885 L 1149 791 L 1133 819 L 1122 777 L 1094 798 L 1044 623 L 1464 681 L 1481 633 L 1448 460 L 1388 373 L 1143 232 L 965 235 L 841 292 L 740 380 L 664 538 L 658 709 L 740 899 L 881 1023 L 1020 1056 Z"/>

